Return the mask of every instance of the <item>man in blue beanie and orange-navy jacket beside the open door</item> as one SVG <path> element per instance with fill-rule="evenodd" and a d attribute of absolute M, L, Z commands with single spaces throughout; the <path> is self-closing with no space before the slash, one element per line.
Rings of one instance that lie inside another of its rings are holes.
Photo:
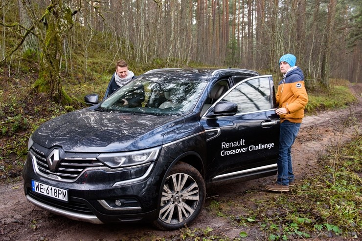
<path fill-rule="evenodd" d="M 266 185 L 270 191 L 288 192 L 294 186 L 291 150 L 300 124 L 304 117 L 304 108 L 308 103 L 308 95 L 304 86 L 302 70 L 295 66 L 296 57 L 283 55 L 279 60 L 283 79 L 278 84 L 275 113 L 280 116 L 278 177 L 274 184 Z"/>

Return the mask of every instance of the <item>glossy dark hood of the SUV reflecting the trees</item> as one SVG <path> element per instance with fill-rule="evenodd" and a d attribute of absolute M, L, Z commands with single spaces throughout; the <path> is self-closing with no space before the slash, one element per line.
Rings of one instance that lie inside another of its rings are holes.
<path fill-rule="evenodd" d="M 46 147 L 68 152 L 117 152 L 162 144 L 163 135 L 183 125 L 180 116 L 73 111 L 42 124 L 32 135 Z"/>

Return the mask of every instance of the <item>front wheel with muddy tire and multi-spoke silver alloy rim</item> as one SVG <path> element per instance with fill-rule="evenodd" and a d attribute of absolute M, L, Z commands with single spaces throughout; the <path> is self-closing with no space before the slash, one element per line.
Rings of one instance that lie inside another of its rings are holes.
<path fill-rule="evenodd" d="M 172 167 L 161 188 L 159 215 L 153 223 L 158 229 L 182 228 L 194 221 L 204 207 L 204 179 L 189 164 L 179 162 Z"/>

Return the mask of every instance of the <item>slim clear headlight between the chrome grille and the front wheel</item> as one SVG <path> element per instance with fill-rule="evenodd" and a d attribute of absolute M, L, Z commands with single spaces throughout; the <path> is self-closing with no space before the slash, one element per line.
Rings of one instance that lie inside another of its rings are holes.
<path fill-rule="evenodd" d="M 109 167 L 126 167 L 155 161 L 161 148 L 156 147 L 135 152 L 103 153 L 97 159 Z"/>

